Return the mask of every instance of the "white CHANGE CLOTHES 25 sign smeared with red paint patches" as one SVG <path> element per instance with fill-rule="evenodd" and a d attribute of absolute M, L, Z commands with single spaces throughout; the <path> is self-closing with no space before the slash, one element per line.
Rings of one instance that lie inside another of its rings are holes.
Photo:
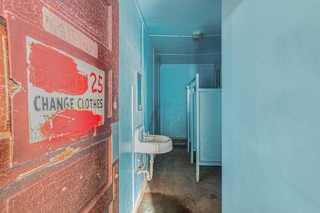
<path fill-rule="evenodd" d="M 86 135 L 104 121 L 104 72 L 26 37 L 29 143 Z"/>

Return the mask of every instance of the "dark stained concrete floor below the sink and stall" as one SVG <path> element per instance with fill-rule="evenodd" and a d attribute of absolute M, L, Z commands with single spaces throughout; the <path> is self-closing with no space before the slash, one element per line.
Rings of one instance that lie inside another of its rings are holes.
<path fill-rule="evenodd" d="M 221 167 L 200 166 L 196 183 L 186 141 L 173 140 L 172 151 L 157 155 L 153 167 L 137 213 L 221 212 Z"/>

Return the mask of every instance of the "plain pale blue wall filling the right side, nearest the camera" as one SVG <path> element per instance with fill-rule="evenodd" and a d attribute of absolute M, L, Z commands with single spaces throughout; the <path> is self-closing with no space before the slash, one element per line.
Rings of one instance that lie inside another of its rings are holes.
<path fill-rule="evenodd" d="M 222 0 L 222 212 L 320 210 L 320 1 Z"/>

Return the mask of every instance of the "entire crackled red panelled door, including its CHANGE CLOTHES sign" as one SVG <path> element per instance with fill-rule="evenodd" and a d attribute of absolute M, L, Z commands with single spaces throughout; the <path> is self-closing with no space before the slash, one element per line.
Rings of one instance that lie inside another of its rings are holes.
<path fill-rule="evenodd" d="M 1 68 L 6 67 L 0 71 L 0 98 L 5 100 L 0 110 L 0 209 L 118 212 L 118 161 L 112 165 L 109 157 L 111 124 L 118 120 L 118 108 L 112 107 L 118 102 L 117 1 L 3 0 L 1 5 L 7 26 L 0 42 Z M 58 25 L 45 23 L 49 18 L 59 20 Z M 95 72 L 93 87 L 94 76 L 83 64 L 104 73 Z M 96 99 L 88 91 L 100 91 L 99 107 L 96 102 L 96 108 L 83 108 L 86 99 Z M 65 97 L 68 106 L 61 104 Z M 41 122 L 30 110 L 42 113 Z M 32 122 L 37 126 L 30 130 Z M 38 140 L 29 137 L 33 130 L 42 131 Z"/>

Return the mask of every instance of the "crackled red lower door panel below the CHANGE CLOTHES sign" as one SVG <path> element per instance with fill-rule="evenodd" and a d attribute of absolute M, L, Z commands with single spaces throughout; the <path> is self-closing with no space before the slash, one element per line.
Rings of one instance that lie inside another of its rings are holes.
<path fill-rule="evenodd" d="M 106 141 L 103 141 L 62 163 L 28 176 L 23 182 L 17 182 L 11 196 L 8 196 L 8 191 L 0 193 L 0 201 L 7 203 L 3 210 L 25 213 L 79 212 L 105 186 L 108 187 L 104 201 L 110 203 L 112 193 L 108 193 L 108 190 L 112 190 L 112 185 L 107 185 L 107 148 Z"/>

